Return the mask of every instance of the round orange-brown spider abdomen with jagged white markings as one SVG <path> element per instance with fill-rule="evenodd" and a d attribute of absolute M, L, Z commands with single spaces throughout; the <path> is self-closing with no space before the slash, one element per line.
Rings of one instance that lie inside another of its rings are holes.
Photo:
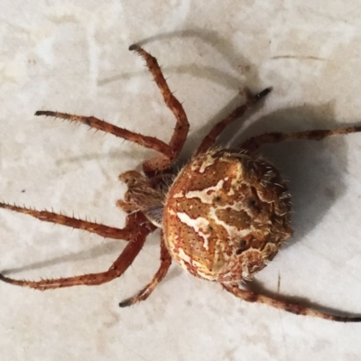
<path fill-rule="evenodd" d="M 290 194 L 255 154 L 212 150 L 194 157 L 167 195 L 163 232 L 171 256 L 195 276 L 250 278 L 292 235 Z"/>

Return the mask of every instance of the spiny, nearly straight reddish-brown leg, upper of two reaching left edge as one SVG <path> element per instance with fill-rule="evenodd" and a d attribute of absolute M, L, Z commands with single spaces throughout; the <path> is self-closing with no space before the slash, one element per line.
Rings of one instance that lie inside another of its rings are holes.
<path fill-rule="evenodd" d="M 27 214 L 34 218 L 38 218 L 44 222 L 51 222 L 76 229 L 83 229 L 90 233 L 95 233 L 98 236 L 104 236 L 106 238 L 113 239 L 130 240 L 134 237 L 134 233 L 137 232 L 138 225 L 140 223 L 147 223 L 147 220 L 143 216 L 142 212 L 136 212 L 129 215 L 126 218 L 125 227 L 123 229 L 119 229 L 115 227 L 104 226 L 94 222 L 89 222 L 88 220 L 63 216 L 61 214 L 49 212 L 47 210 L 36 210 L 32 208 L 18 207 L 3 202 L 0 202 L 0 208 Z"/>

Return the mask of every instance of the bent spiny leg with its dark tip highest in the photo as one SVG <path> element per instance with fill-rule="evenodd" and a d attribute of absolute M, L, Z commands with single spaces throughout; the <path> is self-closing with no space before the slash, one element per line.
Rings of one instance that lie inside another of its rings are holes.
<path fill-rule="evenodd" d="M 188 119 L 186 113 L 184 112 L 183 106 L 181 106 L 179 100 L 172 95 L 171 90 L 162 75 L 162 70 L 158 65 L 157 60 L 151 54 L 144 51 L 139 45 L 134 44 L 129 47 L 129 50 L 135 51 L 143 58 L 143 60 L 145 60 L 149 71 L 153 75 L 155 83 L 161 90 L 165 104 L 170 108 L 171 112 L 177 119 L 177 123 L 171 136 L 171 141 L 169 143 L 173 154 L 171 155 L 171 157 L 168 158 L 161 155 L 143 162 L 143 171 L 149 174 L 153 171 L 162 171 L 171 165 L 171 162 L 178 156 L 184 142 L 187 139 L 190 124 L 188 123 Z"/>

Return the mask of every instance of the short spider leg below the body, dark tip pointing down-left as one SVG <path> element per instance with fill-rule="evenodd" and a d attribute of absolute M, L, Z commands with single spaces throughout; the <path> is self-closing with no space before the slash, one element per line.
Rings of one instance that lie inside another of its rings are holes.
<path fill-rule="evenodd" d="M 155 287 L 158 285 L 159 282 L 162 281 L 162 279 L 167 274 L 169 268 L 171 267 L 171 255 L 168 252 L 168 249 L 164 243 L 164 239 L 162 236 L 161 241 L 161 266 L 159 267 L 157 273 L 154 274 L 154 277 L 151 282 L 149 282 L 141 291 L 136 293 L 133 297 L 130 297 L 129 299 L 126 299 L 125 301 L 122 301 L 119 303 L 120 307 L 127 307 L 131 306 L 136 302 L 144 301 L 146 300 L 151 293 L 154 291 Z"/>

